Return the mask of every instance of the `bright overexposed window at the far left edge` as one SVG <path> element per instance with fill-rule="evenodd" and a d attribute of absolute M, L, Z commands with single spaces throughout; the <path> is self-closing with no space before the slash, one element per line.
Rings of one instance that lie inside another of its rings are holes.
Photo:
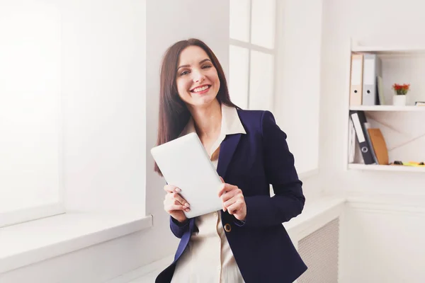
<path fill-rule="evenodd" d="M 60 12 L 0 11 L 0 227 L 64 211 Z"/>

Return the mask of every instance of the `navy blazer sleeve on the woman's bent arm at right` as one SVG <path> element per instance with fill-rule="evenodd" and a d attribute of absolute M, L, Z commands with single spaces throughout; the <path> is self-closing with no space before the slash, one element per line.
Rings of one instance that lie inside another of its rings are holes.
<path fill-rule="evenodd" d="M 245 197 L 246 219 L 238 226 L 266 227 L 281 225 L 302 212 L 305 197 L 302 182 L 294 166 L 294 156 L 288 149 L 286 134 L 276 125 L 273 114 L 261 117 L 263 162 L 266 178 L 275 195 Z"/>

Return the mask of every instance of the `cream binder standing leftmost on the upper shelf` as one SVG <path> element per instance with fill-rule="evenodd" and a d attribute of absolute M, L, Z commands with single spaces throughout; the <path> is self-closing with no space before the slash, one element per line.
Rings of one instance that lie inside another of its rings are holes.
<path fill-rule="evenodd" d="M 350 105 L 361 105 L 363 96 L 363 54 L 351 54 Z"/>

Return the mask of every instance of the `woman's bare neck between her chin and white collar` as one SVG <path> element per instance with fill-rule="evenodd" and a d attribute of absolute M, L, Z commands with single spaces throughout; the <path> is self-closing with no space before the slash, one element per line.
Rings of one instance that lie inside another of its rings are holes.
<path fill-rule="evenodd" d="M 216 137 L 221 130 L 221 105 L 217 99 L 207 107 L 189 108 L 199 137 Z"/>

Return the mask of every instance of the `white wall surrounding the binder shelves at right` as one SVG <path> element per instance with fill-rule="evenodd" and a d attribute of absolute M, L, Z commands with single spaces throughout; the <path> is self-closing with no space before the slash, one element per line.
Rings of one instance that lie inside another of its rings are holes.
<path fill-rule="evenodd" d="M 425 175 L 344 171 L 349 39 L 424 45 L 424 8 L 414 0 L 324 1 L 320 160 L 328 192 L 361 200 L 360 207 L 348 208 L 343 225 L 341 282 L 425 280 L 419 269 L 425 243 L 416 239 L 425 232 Z M 417 127 L 424 127 L 423 121 Z"/>

